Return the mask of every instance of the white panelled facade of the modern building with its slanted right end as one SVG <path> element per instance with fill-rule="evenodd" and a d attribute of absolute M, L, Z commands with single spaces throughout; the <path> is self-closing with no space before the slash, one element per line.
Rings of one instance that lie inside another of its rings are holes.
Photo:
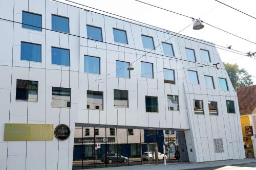
<path fill-rule="evenodd" d="M 0 0 L 0 18 L 1 170 L 245 158 L 213 43 L 50 0 Z"/>

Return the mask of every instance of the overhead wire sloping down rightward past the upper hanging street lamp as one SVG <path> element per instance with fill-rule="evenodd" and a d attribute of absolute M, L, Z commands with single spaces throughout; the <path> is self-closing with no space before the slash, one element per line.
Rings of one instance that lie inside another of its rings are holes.
<path fill-rule="evenodd" d="M 65 0 L 65 1 L 66 1 L 66 0 Z M 165 10 L 165 11 L 168 11 L 168 12 L 172 12 L 172 13 L 175 13 L 175 14 L 178 14 L 178 15 L 181 15 L 181 16 L 184 16 L 184 17 L 194 18 L 194 17 L 190 17 L 190 16 L 187 16 L 187 15 L 183 15 L 183 14 L 174 12 L 174 11 L 170 11 L 170 10 L 167 10 L 167 9 L 164 9 L 164 8 L 161 8 L 161 7 L 152 5 L 152 4 L 148 4 L 148 3 L 145 3 L 145 2 L 142 2 L 142 1 L 139 1 L 139 0 L 134 0 L 134 1 L 137 1 L 137 2 L 142 3 L 142 4 L 146 4 L 146 5 L 155 7 L 155 8 L 159 8 L 159 9 L 161 9 L 161 10 Z M 215 0 L 215 1 L 216 1 L 216 0 Z M 195 18 L 194 18 L 194 19 L 195 19 Z M 223 30 L 223 29 L 220 29 L 220 28 L 218 28 L 218 27 L 216 27 L 216 26 L 212 26 L 212 25 L 210 25 L 209 23 L 207 23 L 207 22 L 205 22 L 205 21 L 202 21 L 202 20 L 201 20 L 201 22 L 205 23 L 206 25 L 208 25 L 208 26 L 210 26 L 210 27 L 213 27 L 213 28 L 216 28 L 216 29 L 218 29 L 218 30 L 220 30 L 220 31 L 223 31 L 223 32 L 225 32 L 225 33 L 228 33 L 228 34 L 230 34 L 230 35 L 236 36 L 236 37 L 238 37 L 238 38 L 240 38 L 240 39 L 243 39 L 243 40 L 245 40 L 245 41 L 248 41 L 248 42 L 251 42 L 251 43 L 253 43 L 253 44 L 256 44 L 256 42 L 250 41 L 250 40 L 248 40 L 248 39 L 246 39 L 246 38 L 243 38 L 243 37 L 240 37 L 240 36 L 238 36 L 238 35 L 236 35 L 236 34 L 230 33 L 230 32 L 228 32 L 228 31 L 225 31 L 225 30 Z M 248 56 L 247 56 L 247 57 L 248 57 Z"/>

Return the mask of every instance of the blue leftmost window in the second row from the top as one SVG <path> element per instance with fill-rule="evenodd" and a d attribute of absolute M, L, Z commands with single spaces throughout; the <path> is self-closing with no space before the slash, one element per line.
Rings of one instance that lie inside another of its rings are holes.
<path fill-rule="evenodd" d="M 41 45 L 22 42 L 20 48 L 20 60 L 41 62 Z"/>

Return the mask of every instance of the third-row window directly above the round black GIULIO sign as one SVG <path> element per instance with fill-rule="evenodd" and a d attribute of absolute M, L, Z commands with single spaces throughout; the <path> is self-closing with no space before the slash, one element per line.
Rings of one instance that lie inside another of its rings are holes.
<path fill-rule="evenodd" d="M 70 108 L 70 96 L 70 88 L 52 87 L 52 107 Z"/>

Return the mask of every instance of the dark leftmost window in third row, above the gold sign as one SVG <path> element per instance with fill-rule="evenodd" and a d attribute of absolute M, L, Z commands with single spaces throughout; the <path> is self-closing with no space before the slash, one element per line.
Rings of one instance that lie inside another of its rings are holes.
<path fill-rule="evenodd" d="M 17 79 L 16 101 L 37 102 L 37 88 L 37 81 Z"/>

